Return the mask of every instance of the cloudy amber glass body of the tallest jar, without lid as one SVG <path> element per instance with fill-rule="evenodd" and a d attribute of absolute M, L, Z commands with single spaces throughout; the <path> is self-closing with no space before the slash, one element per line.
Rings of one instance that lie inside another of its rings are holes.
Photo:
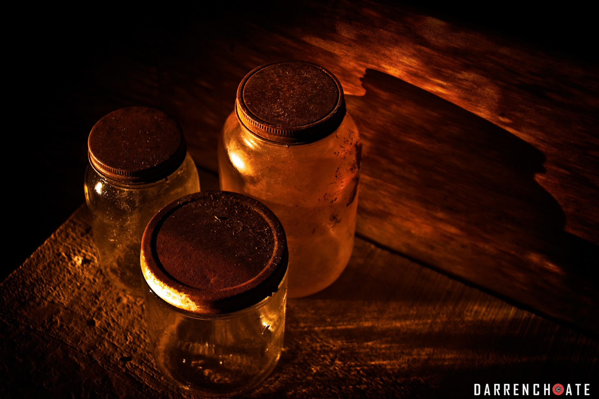
<path fill-rule="evenodd" d="M 323 290 L 353 249 L 361 141 L 346 114 L 319 141 L 276 144 L 229 115 L 218 144 L 220 189 L 253 197 L 279 218 L 289 248 L 289 296 Z"/>

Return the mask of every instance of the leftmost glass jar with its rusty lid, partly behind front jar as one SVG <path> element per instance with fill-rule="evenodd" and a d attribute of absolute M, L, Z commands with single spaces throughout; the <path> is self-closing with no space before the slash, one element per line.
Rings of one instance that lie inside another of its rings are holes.
<path fill-rule="evenodd" d="M 158 109 L 111 112 L 89 133 L 84 181 L 99 264 L 117 287 L 142 296 L 141 236 L 167 203 L 199 191 L 198 170 L 176 120 Z"/>

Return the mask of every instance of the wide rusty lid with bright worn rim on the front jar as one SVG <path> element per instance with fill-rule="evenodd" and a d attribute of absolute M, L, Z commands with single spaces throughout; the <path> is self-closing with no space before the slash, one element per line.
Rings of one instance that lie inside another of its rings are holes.
<path fill-rule="evenodd" d="M 141 240 L 141 270 L 150 288 L 199 314 L 235 312 L 271 296 L 287 263 L 285 232 L 273 212 L 229 191 L 171 202 Z"/>

